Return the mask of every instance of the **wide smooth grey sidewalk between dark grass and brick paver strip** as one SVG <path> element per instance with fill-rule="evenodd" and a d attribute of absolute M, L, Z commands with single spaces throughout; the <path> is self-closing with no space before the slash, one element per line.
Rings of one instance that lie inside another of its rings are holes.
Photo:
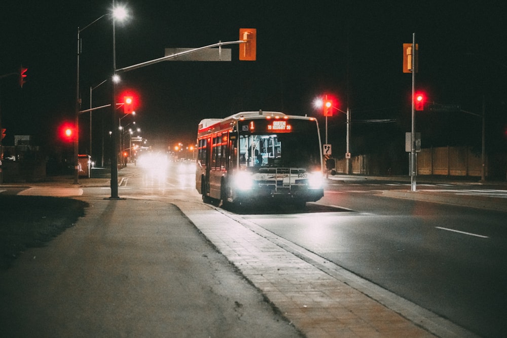
<path fill-rule="evenodd" d="M 3 336 L 302 336 L 174 205 L 86 202 L 0 271 Z"/>

